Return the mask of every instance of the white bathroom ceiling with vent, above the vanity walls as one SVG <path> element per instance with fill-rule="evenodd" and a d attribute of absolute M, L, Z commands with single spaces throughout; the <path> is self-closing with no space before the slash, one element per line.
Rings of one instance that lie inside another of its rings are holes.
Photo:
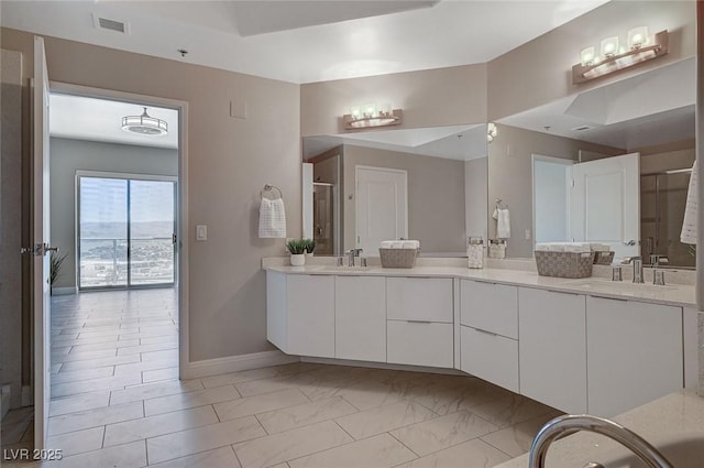
<path fill-rule="evenodd" d="M 444 0 L 429 7 L 435 2 L 3 0 L 1 24 L 314 83 L 485 63 L 605 2 Z M 394 3 L 413 10 L 392 12 Z M 129 34 L 96 29 L 94 15 L 128 23 Z M 178 48 L 189 53 L 182 57 Z"/>

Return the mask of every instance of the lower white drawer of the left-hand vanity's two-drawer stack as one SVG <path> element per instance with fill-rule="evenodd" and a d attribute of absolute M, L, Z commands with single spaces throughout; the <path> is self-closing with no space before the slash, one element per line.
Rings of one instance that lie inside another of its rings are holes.
<path fill-rule="evenodd" d="M 388 320 L 386 360 L 396 364 L 454 367 L 452 324 Z"/>

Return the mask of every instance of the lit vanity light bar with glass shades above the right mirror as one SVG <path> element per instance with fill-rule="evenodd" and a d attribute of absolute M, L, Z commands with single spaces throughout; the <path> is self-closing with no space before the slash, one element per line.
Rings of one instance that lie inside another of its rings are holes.
<path fill-rule="evenodd" d="M 594 47 L 583 48 L 581 62 L 572 66 L 572 84 L 579 85 L 602 76 L 651 61 L 668 53 L 668 30 L 660 31 L 652 44 L 648 28 L 640 26 L 628 31 L 628 51 L 618 46 L 618 36 L 606 37 L 601 43 L 601 56 L 595 56 Z"/>

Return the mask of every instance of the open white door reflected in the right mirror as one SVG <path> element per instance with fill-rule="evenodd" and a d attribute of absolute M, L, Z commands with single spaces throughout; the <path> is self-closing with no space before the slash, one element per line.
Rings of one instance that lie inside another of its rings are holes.
<path fill-rule="evenodd" d="M 640 254 L 640 154 L 574 164 L 570 236 L 610 246 L 616 258 Z"/>

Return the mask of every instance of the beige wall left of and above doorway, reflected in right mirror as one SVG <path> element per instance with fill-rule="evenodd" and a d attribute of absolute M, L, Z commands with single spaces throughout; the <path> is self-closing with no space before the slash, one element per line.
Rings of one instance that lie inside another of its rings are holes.
<path fill-rule="evenodd" d="M 506 257 L 532 257 L 532 154 L 576 161 L 580 150 L 624 154 L 623 150 L 562 137 L 496 126 L 498 135 L 488 146 L 488 215 L 496 198 L 508 205 L 510 233 Z M 530 230 L 530 239 L 525 231 Z M 496 237 L 496 221 L 488 219 L 488 236 Z"/>

